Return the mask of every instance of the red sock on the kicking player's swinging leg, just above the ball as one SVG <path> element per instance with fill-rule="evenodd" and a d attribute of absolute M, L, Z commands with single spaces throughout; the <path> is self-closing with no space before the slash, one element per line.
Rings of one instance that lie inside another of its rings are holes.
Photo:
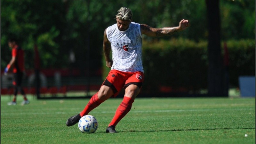
<path fill-rule="evenodd" d="M 84 110 L 80 112 L 80 116 L 88 115 L 92 109 L 98 107 L 104 100 L 98 98 L 98 92 L 94 94 L 88 104 L 85 106 Z"/>

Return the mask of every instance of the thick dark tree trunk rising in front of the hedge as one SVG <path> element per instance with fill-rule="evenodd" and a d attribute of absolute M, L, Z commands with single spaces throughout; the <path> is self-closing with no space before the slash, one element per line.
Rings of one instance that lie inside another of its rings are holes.
<path fill-rule="evenodd" d="M 223 60 L 220 49 L 219 0 L 205 0 L 208 17 L 208 95 L 223 95 Z"/>

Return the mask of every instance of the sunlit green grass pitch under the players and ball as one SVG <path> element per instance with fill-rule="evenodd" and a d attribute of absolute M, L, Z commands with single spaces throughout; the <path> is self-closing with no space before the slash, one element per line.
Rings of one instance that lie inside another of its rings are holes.
<path fill-rule="evenodd" d="M 1 96 L 1 143 L 255 144 L 255 98 L 137 98 L 111 134 L 105 130 L 122 99 L 89 113 L 99 123 L 92 134 L 65 124 L 89 99 L 28 99 L 7 106 L 10 98 Z"/>

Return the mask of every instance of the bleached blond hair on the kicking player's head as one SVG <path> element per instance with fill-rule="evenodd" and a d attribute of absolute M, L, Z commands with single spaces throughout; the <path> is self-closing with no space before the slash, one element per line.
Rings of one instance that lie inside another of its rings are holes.
<path fill-rule="evenodd" d="M 132 10 L 121 7 L 116 14 L 116 19 L 132 21 Z"/>

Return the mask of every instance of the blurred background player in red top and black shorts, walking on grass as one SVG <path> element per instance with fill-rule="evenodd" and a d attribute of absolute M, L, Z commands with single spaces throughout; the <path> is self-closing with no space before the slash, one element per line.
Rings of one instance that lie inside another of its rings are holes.
<path fill-rule="evenodd" d="M 18 92 L 20 92 L 23 95 L 23 99 L 24 99 L 21 105 L 25 105 L 29 103 L 29 100 L 27 99 L 26 94 L 21 86 L 23 72 L 25 71 L 24 51 L 17 44 L 17 41 L 15 39 L 10 39 L 8 41 L 8 45 L 10 48 L 12 48 L 12 59 L 10 60 L 7 67 L 4 69 L 4 74 L 7 75 L 10 68 L 13 67 L 13 77 L 14 77 L 14 80 L 12 82 L 12 84 L 14 85 L 14 97 L 13 97 L 13 100 L 8 103 L 8 105 L 16 105 L 16 96 Z"/>

